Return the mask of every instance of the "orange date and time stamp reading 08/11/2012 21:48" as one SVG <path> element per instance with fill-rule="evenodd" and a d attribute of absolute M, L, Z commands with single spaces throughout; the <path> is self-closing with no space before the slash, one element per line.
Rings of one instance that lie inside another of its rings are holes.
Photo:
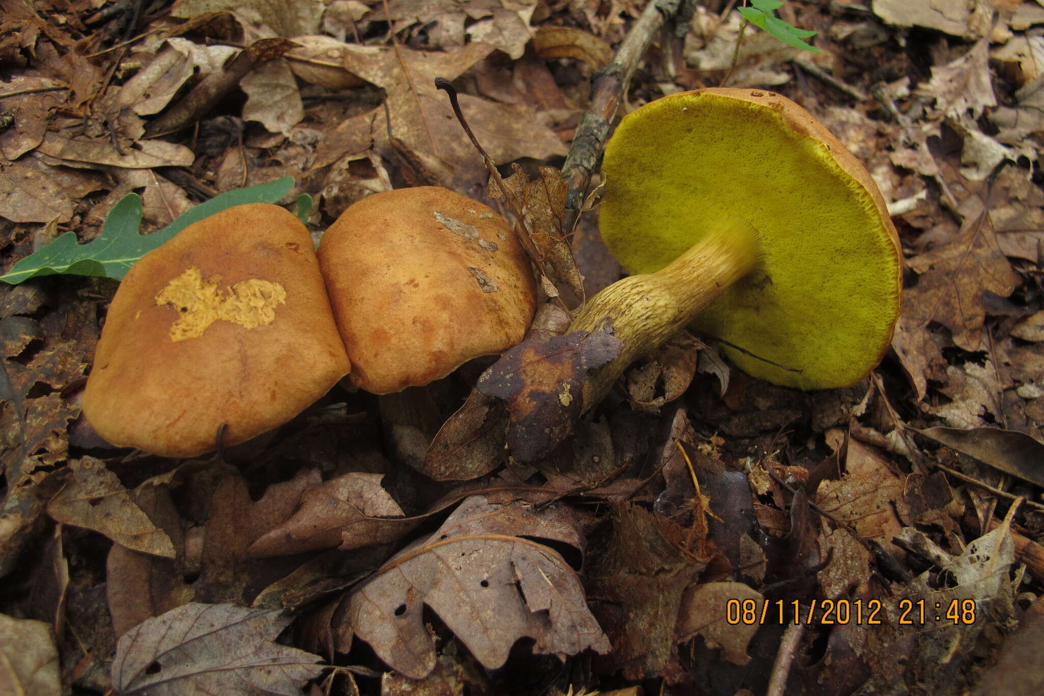
<path fill-rule="evenodd" d="M 975 623 L 974 599 L 901 599 L 893 607 L 895 623 L 901 626 L 926 626 L 951 623 Z M 736 625 L 817 624 L 864 626 L 893 623 L 888 611 L 879 599 L 813 599 L 813 600 L 756 600 L 730 599 L 726 602 L 726 621 Z"/>

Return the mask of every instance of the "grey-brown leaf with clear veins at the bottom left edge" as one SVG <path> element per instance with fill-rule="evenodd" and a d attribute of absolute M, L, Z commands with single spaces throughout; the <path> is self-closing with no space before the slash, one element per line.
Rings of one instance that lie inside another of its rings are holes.
<path fill-rule="evenodd" d="M 127 631 L 116 647 L 120 694 L 298 694 L 322 658 L 276 643 L 291 619 L 281 610 L 192 602 Z"/>

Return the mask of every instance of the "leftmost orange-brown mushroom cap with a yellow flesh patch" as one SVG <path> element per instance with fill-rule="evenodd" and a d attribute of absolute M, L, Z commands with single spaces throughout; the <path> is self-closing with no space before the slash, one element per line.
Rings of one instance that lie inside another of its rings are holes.
<path fill-rule="evenodd" d="M 109 309 L 84 414 L 114 445 L 192 457 L 286 423 L 350 364 L 311 236 L 236 206 L 145 255 Z"/>

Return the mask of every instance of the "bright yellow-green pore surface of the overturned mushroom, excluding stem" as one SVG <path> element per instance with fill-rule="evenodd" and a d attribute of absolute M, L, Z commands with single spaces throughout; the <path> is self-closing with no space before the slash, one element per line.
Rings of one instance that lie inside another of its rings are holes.
<path fill-rule="evenodd" d="M 845 154 L 849 170 L 854 164 L 868 176 Z M 739 217 L 758 230 L 764 272 L 726 290 L 693 325 L 802 370 L 725 346 L 748 374 L 829 388 L 880 361 L 901 292 L 894 230 L 828 145 L 796 131 L 778 110 L 715 94 L 665 97 L 623 119 L 602 177 L 601 235 L 632 273 L 667 265 L 715 219 Z"/>

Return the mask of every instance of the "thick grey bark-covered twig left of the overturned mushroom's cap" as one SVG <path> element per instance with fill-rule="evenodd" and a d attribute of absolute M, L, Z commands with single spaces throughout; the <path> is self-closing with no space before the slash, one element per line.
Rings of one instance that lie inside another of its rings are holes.
<path fill-rule="evenodd" d="M 566 214 L 562 225 L 567 234 L 572 234 L 579 218 L 591 183 L 591 174 L 606 147 L 616 110 L 631 82 L 631 76 L 638 67 L 638 62 L 652 43 L 652 35 L 668 19 L 679 15 L 683 7 L 688 13 L 690 6 L 689 0 L 649 2 L 638 21 L 627 31 L 620 47 L 616 49 L 613 61 L 595 73 L 591 86 L 591 106 L 580 119 L 566 164 L 562 168 L 562 175 L 569 185 L 566 191 Z"/>

